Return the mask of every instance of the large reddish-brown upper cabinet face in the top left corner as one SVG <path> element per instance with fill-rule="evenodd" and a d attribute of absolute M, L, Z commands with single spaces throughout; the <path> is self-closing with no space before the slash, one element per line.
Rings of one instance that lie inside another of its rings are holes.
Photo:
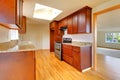
<path fill-rule="evenodd" d="M 15 23 L 16 0 L 0 0 L 0 22 Z"/>

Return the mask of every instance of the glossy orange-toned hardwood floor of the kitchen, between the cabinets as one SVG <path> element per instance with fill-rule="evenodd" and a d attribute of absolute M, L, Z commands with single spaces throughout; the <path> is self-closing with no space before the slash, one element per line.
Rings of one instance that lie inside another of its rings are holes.
<path fill-rule="evenodd" d="M 74 67 L 58 60 L 54 53 L 36 51 L 36 80 L 109 80 L 98 72 L 89 70 L 81 73 Z"/>

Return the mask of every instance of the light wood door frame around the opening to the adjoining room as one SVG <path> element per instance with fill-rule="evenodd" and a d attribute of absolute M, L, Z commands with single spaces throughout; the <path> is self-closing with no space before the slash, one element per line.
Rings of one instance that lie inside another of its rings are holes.
<path fill-rule="evenodd" d="M 93 13 L 93 70 L 97 69 L 97 16 L 115 9 L 120 9 L 120 4 Z"/>

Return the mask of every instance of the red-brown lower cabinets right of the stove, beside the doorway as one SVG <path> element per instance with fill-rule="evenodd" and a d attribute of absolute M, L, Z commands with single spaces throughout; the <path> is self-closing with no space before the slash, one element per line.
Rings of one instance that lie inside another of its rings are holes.
<path fill-rule="evenodd" d="M 80 71 L 89 68 L 92 64 L 91 46 L 77 47 L 63 44 L 63 60 Z"/>

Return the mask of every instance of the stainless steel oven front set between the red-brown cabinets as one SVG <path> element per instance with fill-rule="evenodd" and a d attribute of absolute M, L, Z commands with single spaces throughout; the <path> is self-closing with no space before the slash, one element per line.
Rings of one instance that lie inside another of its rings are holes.
<path fill-rule="evenodd" d="M 62 60 L 62 43 L 61 42 L 55 42 L 55 56 Z"/>

